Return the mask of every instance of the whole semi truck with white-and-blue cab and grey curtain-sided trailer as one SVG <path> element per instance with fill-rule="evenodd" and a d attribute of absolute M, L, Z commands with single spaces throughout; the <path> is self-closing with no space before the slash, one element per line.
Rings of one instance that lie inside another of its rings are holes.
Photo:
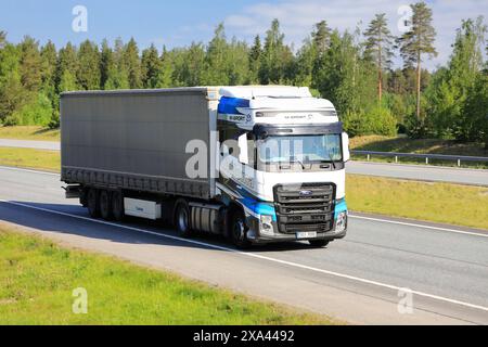
<path fill-rule="evenodd" d="M 347 233 L 349 139 L 300 87 L 65 92 L 62 181 L 92 218 L 171 223 L 236 247 Z"/>

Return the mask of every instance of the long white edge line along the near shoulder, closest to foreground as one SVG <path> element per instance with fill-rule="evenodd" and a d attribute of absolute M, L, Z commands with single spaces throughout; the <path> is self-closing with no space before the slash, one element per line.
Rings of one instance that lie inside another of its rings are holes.
<path fill-rule="evenodd" d="M 204 246 L 204 247 L 207 247 L 207 248 L 214 248 L 214 249 L 235 253 L 235 254 L 239 254 L 239 255 L 242 255 L 242 256 L 246 256 L 246 257 L 249 257 L 249 258 L 256 258 L 256 259 L 267 260 L 267 261 L 271 261 L 271 262 L 275 262 L 275 264 L 286 265 L 286 266 L 294 267 L 294 268 L 299 268 L 299 269 L 304 269 L 304 270 L 319 272 L 319 273 L 333 275 L 333 277 L 337 277 L 337 278 L 342 278 L 342 279 L 347 279 L 347 280 L 350 280 L 350 281 L 356 281 L 356 282 L 360 282 L 360 283 L 364 283 L 364 284 L 375 285 L 375 286 L 380 286 L 380 287 L 384 287 L 384 288 L 388 288 L 388 290 L 393 290 L 393 291 L 397 291 L 397 292 L 401 291 L 401 290 L 404 290 L 402 287 L 399 287 L 399 286 L 396 286 L 396 285 L 391 285 L 391 284 L 386 284 L 386 283 L 382 283 L 382 282 L 376 282 L 376 281 L 371 281 L 371 280 L 367 280 L 367 279 L 361 279 L 361 278 L 357 278 L 357 277 L 349 275 L 349 274 L 344 274 L 344 273 L 339 273 L 339 272 L 334 272 L 334 271 L 323 270 L 323 269 L 319 269 L 319 268 L 313 268 L 313 267 L 309 267 L 309 266 L 306 266 L 306 265 L 292 262 L 292 261 L 286 261 L 286 260 L 280 260 L 280 259 L 275 259 L 275 258 L 271 258 L 271 257 L 267 257 L 267 256 L 261 256 L 261 255 L 257 255 L 257 254 L 253 254 L 253 253 L 240 252 L 240 250 L 232 249 L 232 248 L 229 248 L 229 247 L 213 245 L 213 244 L 201 242 L 201 241 L 181 239 L 181 237 L 178 237 L 178 236 L 172 236 L 172 235 L 168 235 L 168 234 L 164 234 L 164 233 L 157 233 L 157 232 L 154 232 L 154 231 L 149 231 L 149 230 L 144 230 L 144 229 L 140 229 L 140 228 L 121 226 L 121 224 L 117 224 L 117 223 L 113 223 L 113 222 L 108 222 L 108 221 L 104 221 L 104 220 L 91 219 L 91 218 L 88 218 L 88 217 L 76 216 L 76 215 L 72 215 L 72 214 L 66 214 L 66 213 L 62 213 L 62 211 L 56 211 L 56 210 L 52 210 L 52 209 L 42 208 L 42 207 L 30 206 L 30 205 L 22 204 L 22 203 L 14 203 L 14 202 L 9 202 L 9 201 L 4 201 L 4 200 L 0 200 L 0 202 L 9 204 L 9 205 L 13 205 L 13 206 L 30 208 L 30 209 L 35 209 L 35 210 L 49 213 L 49 214 L 54 214 L 54 215 L 60 215 L 60 216 L 64 216 L 64 217 L 76 218 L 76 219 L 79 219 L 79 220 L 90 221 L 90 222 L 100 223 L 100 224 L 110 226 L 110 227 L 115 227 L 115 228 L 121 228 L 121 229 L 126 229 L 126 230 L 141 232 L 141 233 L 144 233 L 144 234 L 151 234 L 151 235 L 155 235 L 155 236 L 163 237 L 163 239 L 180 241 L 180 242 L 184 242 L 184 243 L 189 243 L 189 244 L 193 244 L 193 245 Z M 485 307 L 485 306 L 474 305 L 474 304 L 460 301 L 460 300 L 455 300 L 455 299 L 451 299 L 451 298 L 447 298 L 447 297 L 442 297 L 442 296 L 438 296 L 438 295 L 433 295 L 433 294 L 428 294 L 428 293 L 423 293 L 423 292 L 419 292 L 419 291 L 411 291 L 411 293 L 414 294 L 414 295 L 418 295 L 418 296 L 427 297 L 427 298 L 431 298 L 431 299 L 445 301 L 445 303 L 459 305 L 459 306 L 464 306 L 464 307 L 468 307 L 468 308 L 473 308 L 473 309 L 477 309 L 477 310 L 481 310 L 481 311 L 488 312 L 488 307 Z"/>

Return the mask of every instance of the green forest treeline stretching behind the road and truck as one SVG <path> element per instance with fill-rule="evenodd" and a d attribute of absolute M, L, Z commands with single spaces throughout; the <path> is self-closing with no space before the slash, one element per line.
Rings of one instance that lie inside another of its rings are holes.
<path fill-rule="evenodd" d="M 385 14 L 354 33 L 323 21 L 297 50 L 285 43 L 278 20 L 251 44 L 228 39 L 221 24 L 206 44 L 160 51 L 154 44 L 140 51 L 134 39 L 57 49 L 25 37 L 14 44 L 0 31 L 0 124 L 57 127 L 63 91 L 280 83 L 308 86 L 331 100 L 351 136 L 400 131 L 488 145 L 484 18 L 462 21 L 448 63 L 428 72 L 424 62 L 437 55 L 433 13 L 424 2 L 412 10 L 400 37 Z M 393 68 L 395 56 L 401 68 Z"/>

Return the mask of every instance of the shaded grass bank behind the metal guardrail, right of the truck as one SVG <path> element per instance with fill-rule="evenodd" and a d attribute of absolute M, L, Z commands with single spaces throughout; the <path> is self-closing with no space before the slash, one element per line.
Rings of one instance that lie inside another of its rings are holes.
<path fill-rule="evenodd" d="M 483 143 L 459 143 L 449 140 L 420 139 L 413 140 L 406 137 L 388 138 L 382 136 L 367 136 L 350 139 L 350 147 L 355 151 L 372 152 L 396 152 L 414 154 L 444 154 L 462 156 L 486 156 L 488 151 Z M 354 155 L 355 159 L 367 159 L 363 155 Z M 372 156 L 372 162 L 394 163 L 395 158 Z M 425 165 L 425 159 L 399 158 L 400 164 L 421 164 Z M 458 166 L 455 160 L 431 159 L 431 165 Z M 488 168 L 488 158 L 486 163 L 462 162 L 462 167 L 468 168 Z"/>

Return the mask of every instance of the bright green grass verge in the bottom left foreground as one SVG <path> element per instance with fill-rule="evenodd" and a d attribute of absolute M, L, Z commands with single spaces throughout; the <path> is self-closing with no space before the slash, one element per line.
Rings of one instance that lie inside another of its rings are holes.
<path fill-rule="evenodd" d="M 88 314 L 73 313 L 73 291 Z M 330 319 L 256 300 L 112 257 L 72 250 L 0 224 L 0 324 L 331 324 Z"/>

